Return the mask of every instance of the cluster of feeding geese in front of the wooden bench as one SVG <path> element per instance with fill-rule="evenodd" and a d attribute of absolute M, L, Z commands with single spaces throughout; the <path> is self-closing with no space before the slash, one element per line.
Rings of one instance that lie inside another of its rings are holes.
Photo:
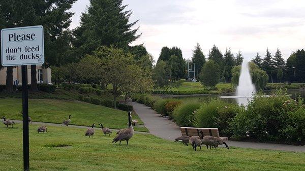
<path fill-rule="evenodd" d="M 230 147 L 222 141 L 220 138 L 217 138 L 215 136 L 206 135 L 203 136 L 203 131 L 199 131 L 200 136 L 188 136 L 188 135 L 182 135 L 175 139 L 175 142 L 179 141 L 188 146 L 188 143 L 190 143 L 193 147 L 193 150 L 196 151 L 197 147 L 201 150 L 201 145 L 206 145 L 206 149 L 208 149 L 208 146 L 212 148 L 217 148 L 219 145 L 224 144 L 227 149 Z"/>

